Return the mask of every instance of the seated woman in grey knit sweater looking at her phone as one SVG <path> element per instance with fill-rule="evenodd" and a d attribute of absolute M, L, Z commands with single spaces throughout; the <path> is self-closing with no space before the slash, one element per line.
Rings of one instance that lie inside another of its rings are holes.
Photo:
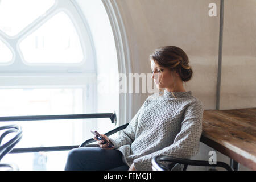
<path fill-rule="evenodd" d="M 102 134 L 113 147 L 94 137 L 100 148 L 71 150 L 66 170 L 151 170 L 154 156 L 189 159 L 199 152 L 203 105 L 183 87 L 193 73 L 188 56 L 179 47 L 166 46 L 150 55 L 150 63 L 161 94 L 144 101 L 118 138 Z"/>

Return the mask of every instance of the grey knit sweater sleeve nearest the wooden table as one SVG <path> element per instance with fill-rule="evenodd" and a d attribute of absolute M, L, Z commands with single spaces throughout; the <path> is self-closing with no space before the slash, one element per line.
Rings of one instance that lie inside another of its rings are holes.
<path fill-rule="evenodd" d="M 188 159 L 199 152 L 203 111 L 201 101 L 189 105 L 184 111 L 181 130 L 176 135 L 174 143 L 162 150 L 135 159 L 133 161 L 135 169 L 138 171 L 152 170 L 151 160 L 154 156 L 166 155 Z"/>

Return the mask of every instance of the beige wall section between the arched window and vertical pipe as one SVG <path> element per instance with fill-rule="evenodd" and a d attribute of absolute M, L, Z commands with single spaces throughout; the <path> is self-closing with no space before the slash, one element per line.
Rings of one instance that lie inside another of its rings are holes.
<path fill-rule="evenodd" d="M 194 74 L 185 87 L 216 109 L 219 17 L 209 17 L 211 0 L 116 1 L 126 27 L 134 72 L 149 73 L 148 55 L 160 46 L 178 46 Z M 220 7 L 220 1 L 216 1 Z M 218 15 L 220 9 L 217 9 Z M 143 97 L 143 100 L 146 98 Z"/>

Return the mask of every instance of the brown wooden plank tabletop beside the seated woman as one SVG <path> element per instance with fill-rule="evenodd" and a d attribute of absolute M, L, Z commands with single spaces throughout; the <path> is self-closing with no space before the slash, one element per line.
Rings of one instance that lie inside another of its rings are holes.
<path fill-rule="evenodd" d="M 200 141 L 256 170 L 256 108 L 205 110 Z"/>

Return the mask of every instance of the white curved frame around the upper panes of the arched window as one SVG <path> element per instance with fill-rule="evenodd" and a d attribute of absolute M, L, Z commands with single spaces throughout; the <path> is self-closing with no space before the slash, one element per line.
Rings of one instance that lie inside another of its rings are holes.
<path fill-rule="evenodd" d="M 80 39 L 80 44 L 84 59 L 80 63 L 63 63 L 63 64 L 49 64 L 49 63 L 28 63 L 24 60 L 22 51 L 19 48 L 20 42 L 26 39 L 32 32 L 38 30 L 47 20 L 51 19 L 56 14 L 64 12 L 71 20 L 77 35 Z M 96 56 L 95 48 L 92 40 L 88 24 L 80 11 L 72 1 L 55 0 L 55 4 L 46 11 L 42 16 L 39 16 L 34 22 L 31 22 L 19 34 L 10 37 L 5 32 L 0 31 L 0 38 L 9 47 L 13 53 L 13 60 L 5 63 L 0 63 L 0 72 L 5 75 L 15 75 L 32 73 L 34 75 L 48 73 L 58 73 L 64 75 L 71 75 L 71 73 L 96 73 Z M 85 51 L 86 50 L 86 51 Z"/>

